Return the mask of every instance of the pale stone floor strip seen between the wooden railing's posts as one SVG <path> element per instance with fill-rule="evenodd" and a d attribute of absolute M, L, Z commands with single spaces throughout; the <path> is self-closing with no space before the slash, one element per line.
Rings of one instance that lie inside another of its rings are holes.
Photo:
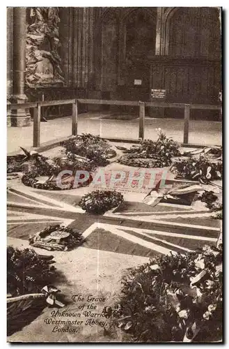
<path fill-rule="evenodd" d="M 101 119 L 98 112 L 79 114 L 78 133 L 92 133 L 102 137 L 132 138 L 139 137 L 139 119 L 113 120 Z M 63 138 L 71 134 L 71 117 L 52 119 L 41 123 L 40 143 Z M 145 138 L 156 140 L 156 128 L 161 128 L 168 137 L 177 142 L 183 141 L 183 120 L 152 119 L 145 117 Z M 219 121 L 190 121 L 189 142 L 203 145 L 222 144 L 222 126 Z M 33 124 L 29 127 L 8 128 L 8 153 L 19 150 L 20 146 L 33 144 Z"/>

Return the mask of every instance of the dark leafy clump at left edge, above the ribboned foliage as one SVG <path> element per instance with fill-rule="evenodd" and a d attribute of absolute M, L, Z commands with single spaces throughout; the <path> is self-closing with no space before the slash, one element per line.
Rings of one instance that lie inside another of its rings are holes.
<path fill-rule="evenodd" d="M 40 292 L 56 276 L 56 268 L 33 249 L 7 247 L 7 292 L 11 295 Z"/>

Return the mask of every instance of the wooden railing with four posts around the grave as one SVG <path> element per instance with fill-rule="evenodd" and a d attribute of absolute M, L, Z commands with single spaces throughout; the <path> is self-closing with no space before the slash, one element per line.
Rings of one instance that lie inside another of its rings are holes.
<path fill-rule="evenodd" d="M 166 107 L 184 109 L 184 144 L 189 143 L 189 119 L 191 109 L 200 110 L 221 110 L 221 105 L 185 104 L 185 103 L 165 103 L 165 102 L 136 102 L 136 101 L 109 101 L 98 99 L 67 99 L 61 101 L 44 101 L 33 103 L 8 104 L 8 110 L 34 108 L 33 114 L 33 147 L 40 147 L 40 108 L 50 105 L 72 104 L 72 135 L 77 135 L 78 124 L 78 104 L 96 105 L 130 105 L 139 106 L 139 138 L 144 139 L 145 131 L 145 107 Z"/>

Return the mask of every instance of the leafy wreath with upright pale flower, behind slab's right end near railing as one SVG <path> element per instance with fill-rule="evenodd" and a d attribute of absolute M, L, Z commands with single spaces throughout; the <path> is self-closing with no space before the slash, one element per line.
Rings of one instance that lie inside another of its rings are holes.
<path fill-rule="evenodd" d="M 180 156 L 179 144 L 161 130 L 157 141 L 143 140 L 140 147 L 132 147 L 128 153 L 119 159 L 120 163 L 144 168 L 164 168 L 171 165 L 173 156 Z"/>

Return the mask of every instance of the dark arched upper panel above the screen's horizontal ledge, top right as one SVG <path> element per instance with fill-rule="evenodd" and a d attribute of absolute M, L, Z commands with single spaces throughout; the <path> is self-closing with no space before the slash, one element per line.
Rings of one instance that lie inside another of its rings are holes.
<path fill-rule="evenodd" d="M 221 31 L 217 8 L 177 8 L 168 25 L 169 55 L 220 57 Z"/>

